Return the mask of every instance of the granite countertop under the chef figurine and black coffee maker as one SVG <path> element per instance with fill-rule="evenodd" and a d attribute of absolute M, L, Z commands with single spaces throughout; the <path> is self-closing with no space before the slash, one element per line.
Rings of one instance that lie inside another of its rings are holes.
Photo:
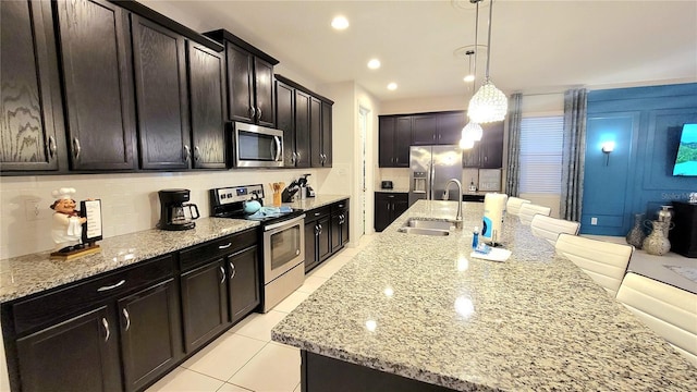
<path fill-rule="evenodd" d="M 201 218 L 185 231 L 158 229 L 105 238 L 101 252 L 72 260 L 51 260 L 50 252 L 0 260 L 0 303 L 151 259 L 259 225 L 240 219 Z"/>

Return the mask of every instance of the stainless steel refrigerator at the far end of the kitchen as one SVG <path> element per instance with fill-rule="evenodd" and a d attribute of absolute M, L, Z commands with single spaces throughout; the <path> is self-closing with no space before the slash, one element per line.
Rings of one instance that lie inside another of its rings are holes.
<path fill-rule="evenodd" d="M 412 146 L 409 151 L 409 206 L 418 199 L 442 200 L 448 180 L 462 181 L 462 149 L 453 146 Z M 450 185 L 449 200 L 460 200 Z"/>

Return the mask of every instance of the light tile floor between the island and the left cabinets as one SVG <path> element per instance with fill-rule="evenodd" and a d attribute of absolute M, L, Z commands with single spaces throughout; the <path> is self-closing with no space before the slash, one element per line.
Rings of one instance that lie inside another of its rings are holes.
<path fill-rule="evenodd" d="M 363 236 L 305 278 L 267 314 L 252 314 L 146 392 L 295 392 L 301 387 L 299 350 L 271 341 L 271 329 L 343 267 L 376 235 Z"/>

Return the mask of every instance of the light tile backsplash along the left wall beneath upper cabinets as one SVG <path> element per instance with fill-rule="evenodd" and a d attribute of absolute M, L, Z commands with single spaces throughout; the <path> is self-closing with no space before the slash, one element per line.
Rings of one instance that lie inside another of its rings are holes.
<path fill-rule="evenodd" d="M 210 215 L 208 189 L 230 185 L 286 184 L 301 174 L 310 173 L 316 191 L 326 170 L 231 170 L 176 173 L 81 174 L 0 177 L 0 258 L 27 255 L 53 248 L 50 236 L 53 203 L 51 192 L 74 187 L 75 200 L 101 199 L 105 237 L 155 228 L 160 219 L 157 192 L 167 188 L 191 189 L 191 203 L 198 205 L 201 217 Z M 265 200 L 271 204 L 270 197 Z"/>

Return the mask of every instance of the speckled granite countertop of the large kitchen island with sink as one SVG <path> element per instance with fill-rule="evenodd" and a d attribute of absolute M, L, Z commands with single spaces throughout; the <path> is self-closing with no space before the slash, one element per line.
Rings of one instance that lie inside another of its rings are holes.
<path fill-rule="evenodd" d="M 272 339 L 455 390 L 697 390 L 697 369 L 545 240 L 506 217 L 504 262 L 472 258 L 464 230 L 403 234 L 419 200 L 272 330 Z"/>

